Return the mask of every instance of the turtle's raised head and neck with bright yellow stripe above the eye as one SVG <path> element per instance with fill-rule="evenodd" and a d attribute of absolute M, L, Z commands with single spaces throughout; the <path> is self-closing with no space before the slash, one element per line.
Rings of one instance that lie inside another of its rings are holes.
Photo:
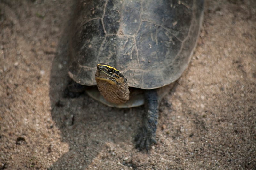
<path fill-rule="evenodd" d="M 129 100 L 127 79 L 116 68 L 108 64 L 98 64 L 95 80 L 101 95 L 108 102 L 118 104 Z"/>

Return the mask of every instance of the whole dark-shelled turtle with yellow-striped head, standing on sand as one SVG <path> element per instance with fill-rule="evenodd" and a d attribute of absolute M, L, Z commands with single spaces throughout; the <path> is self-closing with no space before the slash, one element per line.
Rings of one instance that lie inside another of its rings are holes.
<path fill-rule="evenodd" d="M 158 105 L 187 68 L 204 0 L 79 0 L 70 24 L 69 92 L 110 107 L 144 105 L 135 146 L 156 143 Z"/>

